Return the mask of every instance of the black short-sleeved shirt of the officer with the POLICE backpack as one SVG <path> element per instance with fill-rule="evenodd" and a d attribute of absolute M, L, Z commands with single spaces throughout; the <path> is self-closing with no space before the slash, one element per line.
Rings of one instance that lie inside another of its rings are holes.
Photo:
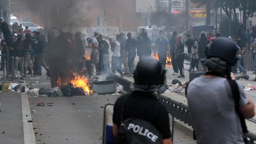
<path fill-rule="evenodd" d="M 162 139 L 171 137 L 168 112 L 152 93 L 133 91 L 131 94 L 118 98 L 114 104 L 114 124 L 120 127 L 120 113 L 124 100 L 126 102 L 124 104 L 123 121 L 130 118 L 149 121 L 162 134 Z"/>

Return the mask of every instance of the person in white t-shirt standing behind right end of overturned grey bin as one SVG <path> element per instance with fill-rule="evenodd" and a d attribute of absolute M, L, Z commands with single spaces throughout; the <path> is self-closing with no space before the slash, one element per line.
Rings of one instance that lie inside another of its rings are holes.
<path fill-rule="evenodd" d="M 115 39 L 109 39 L 112 55 L 111 72 L 116 74 L 116 71 L 120 73 L 123 77 L 123 72 L 121 71 L 121 46 L 120 43 Z"/>

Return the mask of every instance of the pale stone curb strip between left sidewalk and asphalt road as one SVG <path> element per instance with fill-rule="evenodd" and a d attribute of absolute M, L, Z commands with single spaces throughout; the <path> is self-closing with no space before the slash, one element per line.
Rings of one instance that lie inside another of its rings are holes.
<path fill-rule="evenodd" d="M 24 143 L 36 144 L 32 117 L 31 117 L 30 107 L 28 103 L 28 96 L 24 92 L 21 92 L 21 105 L 22 105 L 22 112 L 23 112 Z M 28 122 L 28 121 L 31 121 L 31 122 Z"/>

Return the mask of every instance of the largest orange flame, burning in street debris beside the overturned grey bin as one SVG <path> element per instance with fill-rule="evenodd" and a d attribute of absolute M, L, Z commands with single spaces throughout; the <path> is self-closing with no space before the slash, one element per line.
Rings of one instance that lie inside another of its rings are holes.
<path fill-rule="evenodd" d="M 89 79 L 85 76 L 76 75 L 76 73 L 73 73 L 74 78 L 71 79 L 71 84 L 73 84 L 73 87 L 79 87 L 82 88 L 85 94 L 92 94 L 93 91 L 89 87 Z"/>

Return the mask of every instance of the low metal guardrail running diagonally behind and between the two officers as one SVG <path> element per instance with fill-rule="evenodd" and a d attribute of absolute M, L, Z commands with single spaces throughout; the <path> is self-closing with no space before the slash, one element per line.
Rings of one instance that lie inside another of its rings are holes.
<path fill-rule="evenodd" d="M 107 77 L 107 80 L 116 81 L 119 84 L 123 85 L 124 91 L 132 92 L 132 90 L 130 89 L 130 84 L 132 82 L 120 78 L 120 76 L 110 73 L 110 76 Z M 171 113 L 172 116 L 174 116 L 176 119 L 183 121 L 185 124 L 188 124 L 188 126 L 192 126 L 193 122 L 187 105 L 175 101 L 171 98 L 167 98 L 164 95 L 159 95 L 158 100 L 165 105 L 168 113 Z M 256 143 L 256 134 L 248 132 L 247 139 L 249 140 L 249 143 Z"/>

